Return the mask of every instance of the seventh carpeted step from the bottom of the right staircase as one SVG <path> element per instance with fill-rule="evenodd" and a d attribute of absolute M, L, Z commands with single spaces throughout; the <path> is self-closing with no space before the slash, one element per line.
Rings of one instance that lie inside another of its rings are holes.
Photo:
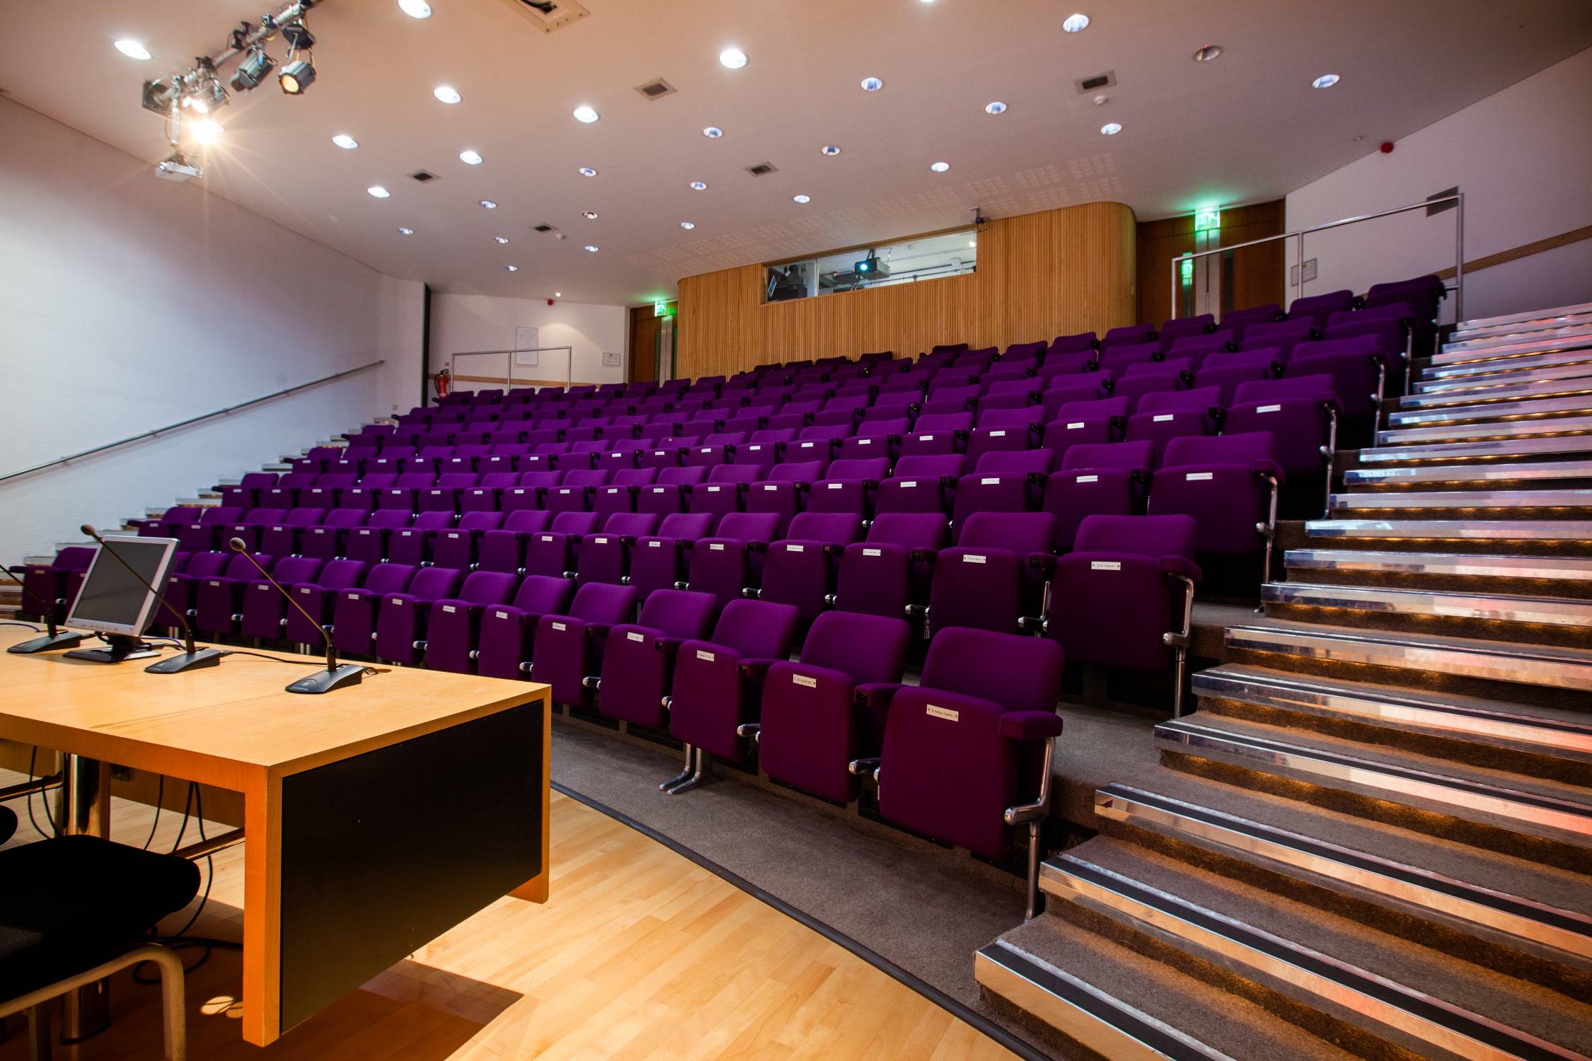
<path fill-rule="evenodd" d="M 1269 582 L 1261 600 L 1278 619 L 1592 649 L 1592 601 L 1571 597 Z"/>

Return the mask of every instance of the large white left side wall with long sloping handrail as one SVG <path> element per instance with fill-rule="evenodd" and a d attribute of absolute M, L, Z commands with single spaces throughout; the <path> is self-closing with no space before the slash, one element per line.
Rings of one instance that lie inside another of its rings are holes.
<path fill-rule="evenodd" d="M 419 396 L 422 285 L 0 99 L 0 474 L 350 369 L 264 406 L 0 482 L 0 560 L 53 552 Z"/>

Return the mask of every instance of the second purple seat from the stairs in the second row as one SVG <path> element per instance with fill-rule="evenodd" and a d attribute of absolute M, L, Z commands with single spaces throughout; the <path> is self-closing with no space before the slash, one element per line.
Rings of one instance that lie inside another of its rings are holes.
<path fill-rule="evenodd" d="M 1016 632 L 1038 614 L 1049 574 L 1055 517 L 1049 512 L 974 512 L 957 541 L 935 558 L 928 630 L 947 627 Z"/>

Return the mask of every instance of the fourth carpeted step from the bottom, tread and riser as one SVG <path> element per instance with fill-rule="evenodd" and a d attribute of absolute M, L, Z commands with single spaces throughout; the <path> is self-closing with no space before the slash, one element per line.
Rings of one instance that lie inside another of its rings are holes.
<path fill-rule="evenodd" d="M 1592 789 L 1196 711 L 1156 725 L 1175 770 L 1592 873 Z"/>

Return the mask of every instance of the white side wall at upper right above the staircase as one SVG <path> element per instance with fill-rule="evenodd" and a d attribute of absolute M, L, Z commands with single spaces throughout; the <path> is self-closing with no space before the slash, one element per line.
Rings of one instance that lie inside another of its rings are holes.
<path fill-rule="evenodd" d="M 1368 135 L 1366 157 L 1288 196 L 1288 231 L 1420 202 L 1453 186 L 1465 192 L 1466 259 L 1592 224 L 1589 130 L 1592 49 L 1404 137 L 1391 154 L 1379 153 Z M 1305 237 L 1304 256 L 1318 261 L 1318 277 L 1304 293 L 1364 291 L 1453 266 L 1453 216 L 1418 210 Z M 1465 280 L 1469 318 L 1586 301 L 1592 240 Z M 1446 320 L 1452 307 L 1450 296 Z"/>

